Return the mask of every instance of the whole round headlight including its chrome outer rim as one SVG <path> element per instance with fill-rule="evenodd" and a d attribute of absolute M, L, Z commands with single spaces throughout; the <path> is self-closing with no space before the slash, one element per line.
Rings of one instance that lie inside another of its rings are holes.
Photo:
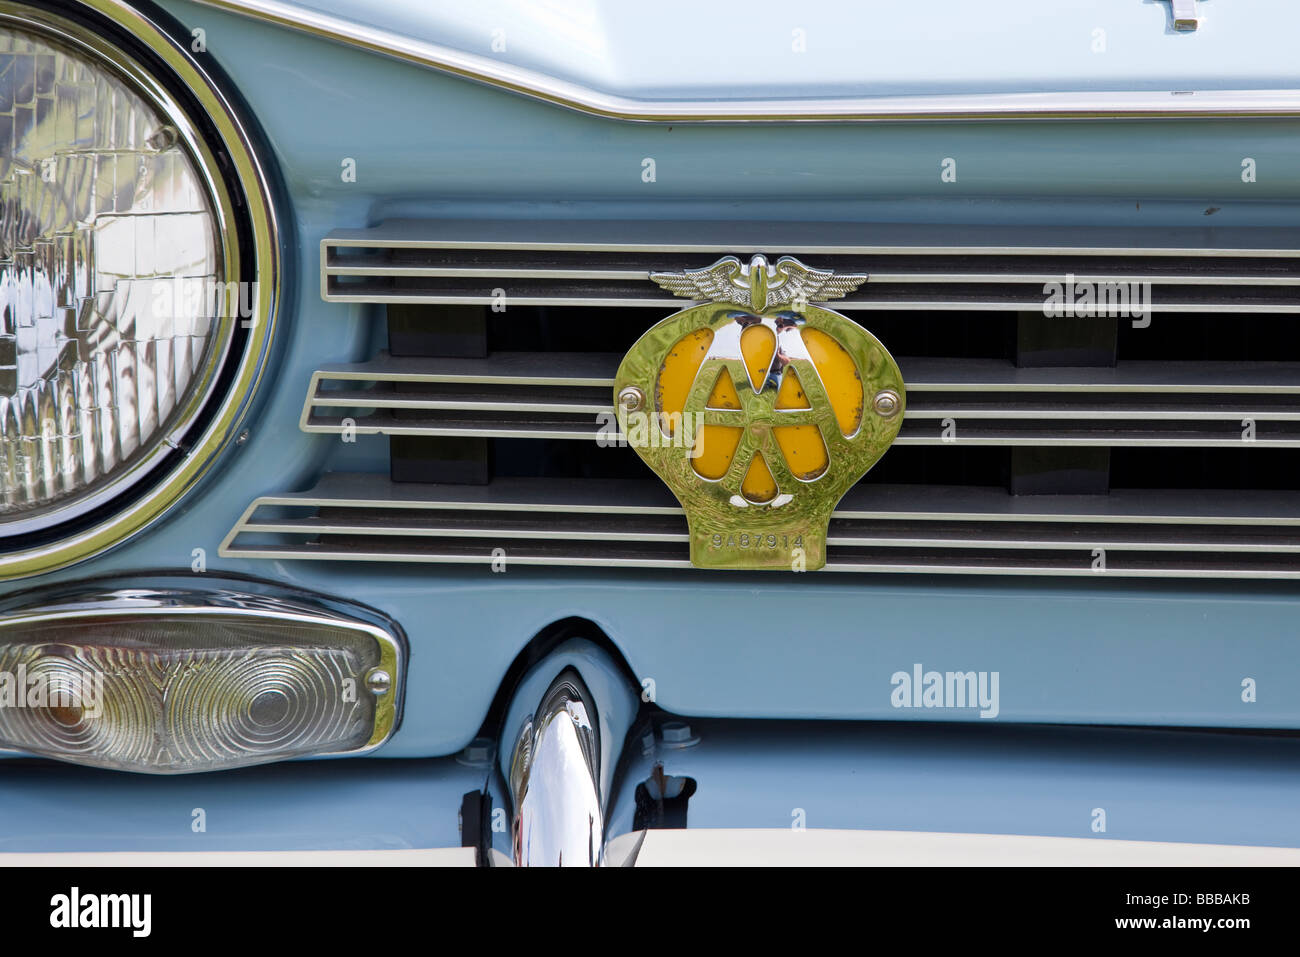
<path fill-rule="evenodd" d="M 121 541 L 194 484 L 260 377 L 278 276 L 237 114 L 116 0 L 0 0 L 0 211 L 8 577 Z"/>

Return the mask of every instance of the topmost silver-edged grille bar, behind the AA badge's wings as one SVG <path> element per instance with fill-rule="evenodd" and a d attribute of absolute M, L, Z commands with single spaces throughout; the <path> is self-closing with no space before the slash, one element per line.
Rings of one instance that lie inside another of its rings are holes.
<path fill-rule="evenodd" d="M 698 269 L 724 255 L 814 256 L 819 268 L 871 278 L 837 300 L 845 311 L 1017 311 L 1043 306 L 1045 283 L 1149 283 L 1150 311 L 1296 312 L 1294 230 L 972 230 L 850 224 L 394 221 L 337 230 L 321 244 L 330 302 L 679 308 L 655 270 Z M 621 231 L 620 231 L 621 230 Z M 664 242 L 671 234 L 677 242 Z M 604 242 L 597 239 L 603 237 Z M 755 242 L 762 239 L 760 246 Z M 998 242 L 1002 239 L 1002 242 Z M 1037 242 L 1035 242 L 1037 239 Z M 738 241 L 738 242 L 737 242 Z M 1124 242 L 1127 241 L 1127 242 Z M 1271 244 L 1277 243 L 1277 244 Z"/>

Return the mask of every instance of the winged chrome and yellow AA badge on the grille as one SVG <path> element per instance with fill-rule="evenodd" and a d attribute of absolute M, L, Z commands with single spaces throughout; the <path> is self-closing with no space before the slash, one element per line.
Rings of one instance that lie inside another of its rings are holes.
<path fill-rule="evenodd" d="M 653 272 L 697 300 L 642 335 L 615 377 L 628 445 L 667 482 L 701 568 L 826 564 L 831 512 L 898 434 L 902 373 L 846 316 L 814 303 L 863 274 L 784 256 Z"/>

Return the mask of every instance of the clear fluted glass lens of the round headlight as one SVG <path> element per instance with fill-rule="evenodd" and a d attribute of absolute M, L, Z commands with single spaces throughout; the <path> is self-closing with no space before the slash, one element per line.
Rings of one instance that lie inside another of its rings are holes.
<path fill-rule="evenodd" d="M 176 127 L 78 48 L 10 27 L 0 207 L 4 532 L 138 476 L 183 439 L 229 347 L 218 317 L 231 289 Z"/>

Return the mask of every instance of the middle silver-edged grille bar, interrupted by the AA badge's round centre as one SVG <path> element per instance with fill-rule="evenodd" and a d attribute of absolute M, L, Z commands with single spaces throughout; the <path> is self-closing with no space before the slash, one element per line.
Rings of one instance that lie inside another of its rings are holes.
<path fill-rule="evenodd" d="M 1258 424 L 1254 441 L 1264 447 L 1300 445 L 1300 429 L 1287 425 L 1300 421 L 1300 363 L 1018 369 L 1010 363 L 962 367 L 905 358 L 900 365 L 909 400 L 898 445 L 942 445 L 944 419 L 959 421 L 959 441 L 993 446 L 1234 446 L 1245 419 Z M 302 426 L 359 434 L 612 438 L 616 368 L 618 356 L 597 354 L 428 360 L 380 355 L 317 372 Z M 354 416 L 346 410 L 374 411 Z M 393 410 L 400 410 L 400 417 Z"/>

